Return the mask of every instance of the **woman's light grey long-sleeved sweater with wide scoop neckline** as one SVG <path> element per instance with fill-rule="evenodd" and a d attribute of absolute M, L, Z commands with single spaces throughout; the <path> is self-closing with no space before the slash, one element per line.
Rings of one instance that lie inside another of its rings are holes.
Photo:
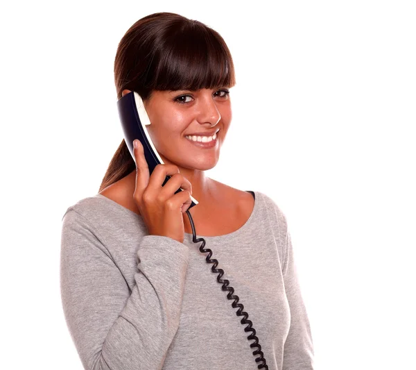
<path fill-rule="evenodd" d="M 311 328 L 286 217 L 266 194 L 254 194 L 239 230 L 196 234 L 244 305 L 268 369 L 310 370 Z M 192 234 L 183 243 L 148 235 L 140 215 L 101 194 L 78 201 L 62 220 L 62 307 L 84 369 L 257 369 L 248 323 Z"/>

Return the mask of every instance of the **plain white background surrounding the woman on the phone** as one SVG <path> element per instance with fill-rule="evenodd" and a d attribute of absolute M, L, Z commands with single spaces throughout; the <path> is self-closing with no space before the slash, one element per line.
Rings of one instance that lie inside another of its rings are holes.
<path fill-rule="evenodd" d="M 119 40 L 169 11 L 232 52 L 233 121 L 207 176 L 285 212 L 315 369 L 416 369 L 414 1 L 6 3 L 1 368 L 82 369 L 60 301 L 61 219 L 98 192 L 123 138 Z"/>

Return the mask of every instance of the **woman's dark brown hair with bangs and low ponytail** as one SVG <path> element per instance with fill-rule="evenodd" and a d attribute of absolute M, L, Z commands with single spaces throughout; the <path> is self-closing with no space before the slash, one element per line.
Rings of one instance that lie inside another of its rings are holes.
<path fill-rule="evenodd" d="M 139 19 L 119 42 L 114 60 L 117 99 L 125 89 L 143 100 L 153 90 L 199 90 L 235 85 L 231 53 L 212 28 L 171 12 Z M 113 155 L 100 189 L 135 171 L 125 141 Z"/>

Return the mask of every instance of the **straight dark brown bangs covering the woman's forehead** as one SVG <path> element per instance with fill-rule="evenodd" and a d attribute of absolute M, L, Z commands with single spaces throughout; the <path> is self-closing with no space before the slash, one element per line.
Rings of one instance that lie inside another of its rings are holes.
<path fill-rule="evenodd" d="M 156 44 L 146 87 L 151 90 L 199 90 L 235 85 L 231 53 L 216 31 L 198 22 L 166 28 Z M 162 42 L 163 40 L 163 42 Z"/>

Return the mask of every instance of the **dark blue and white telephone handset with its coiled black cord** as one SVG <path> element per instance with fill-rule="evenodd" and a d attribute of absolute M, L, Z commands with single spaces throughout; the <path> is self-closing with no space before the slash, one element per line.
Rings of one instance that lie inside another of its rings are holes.
<path fill-rule="evenodd" d="M 150 125 L 150 120 L 147 115 L 146 109 L 144 108 L 144 103 L 141 99 L 141 96 L 137 92 L 129 92 L 128 94 L 125 94 L 121 99 L 117 101 L 117 108 L 119 110 L 119 117 L 121 121 L 121 126 L 123 128 L 123 134 L 124 134 L 124 141 L 125 144 L 128 147 L 128 150 L 130 151 L 130 154 L 132 155 L 133 160 L 135 160 L 135 153 L 133 151 L 133 141 L 135 139 L 140 140 L 141 144 L 144 148 L 144 156 L 146 158 L 146 162 L 148 163 L 149 167 L 149 174 L 152 174 L 155 167 L 159 164 L 164 164 L 162 158 L 160 158 L 159 153 L 157 153 L 155 149 L 155 145 L 153 144 L 152 140 L 150 139 L 150 135 L 147 131 L 146 126 Z M 135 160 L 136 161 L 136 160 Z M 166 182 L 171 178 L 171 176 L 166 176 L 164 183 L 162 186 L 166 184 Z M 181 192 L 182 189 L 179 188 L 177 192 Z M 253 193 L 254 195 L 254 193 Z M 232 307 L 236 308 L 238 307 L 239 310 L 236 311 L 237 316 L 244 316 L 243 319 L 241 319 L 241 323 L 243 325 L 248 324 L 247 327 L 244 328 L 245 332 L 252 332 L 247 338 L 254 339 L 254 343 L 250 344 L 250 347 L 257 347 L 258 349 L 256 351 L 253 351 L 252 354 L 254 356 L 260 355 L 259 358 L 255 358 L 256 362 L 261 362 L 257 369 L 266 369 L 268 370 L 268 365 L 266 364 L 266 359 L 263 358 L 263 352 L 261 351 L 261 345 L 259 344 L 259 338 L 256 336 L 256 330 L 252 328 L 252 321 L 248 320 L 248 313 L 243 311 L 244 306 L 239 303 L 240 298 L 236 294 L 234 294 L 234 288 L 229 285 L 229 280 L 224 279 L 221 280 L 221 277 L 224 275 L 223 269 L 216 269 L 218 266 L 218 260 L 213 259 L 211 260 L 212 251 L 211 249 L 204 249 L 205 246 L 205 239 L 200 237 L 196 237 L 196 231 L 195 226 L 193 224 L 193 219 L 191 217 L 191 212 L 189 210 L 194 206 L 197 205 L 198 201 L 194 199 L 191 196 L 191 205 L 187 209 L 187 215 L 189 217 L 189 221 L 191 223 L 192 228 L 192 241 L 194 243 L 202 242 L 200 245 L 200 252 L 201 253 L 209 253 L 207 255 L 207 258 L 205 260 L 207 263 L 212 263 L 213 266 L 211 267 L 211 271 L 214 274 L 218 274 L 217 281 L 220 284 L 223 284 L 221 289 L 229 291 L 227 294 L 227 298 L 229 300 L 234 299 L 234 302 L 232 302 Z"/>

